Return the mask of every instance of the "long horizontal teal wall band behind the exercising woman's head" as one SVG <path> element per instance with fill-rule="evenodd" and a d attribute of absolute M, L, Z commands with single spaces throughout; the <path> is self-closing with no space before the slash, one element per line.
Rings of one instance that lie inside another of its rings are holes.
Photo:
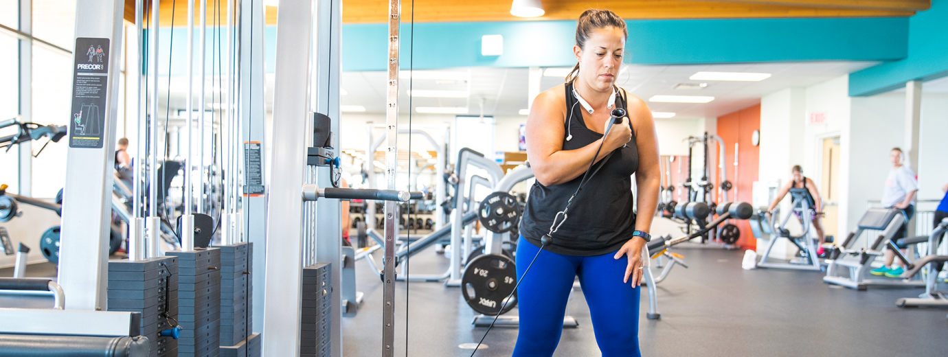
<path fill-rule="evenodd" d="M 905 41 L 909 37 L 909 19 L 906 18 L 647 20 L 627 24 L 627 47 L 631 55 L 626 61 L 639 64 L 894 61 L 904 59 L 909 53 Z M 208 30 L 209 71 L 210 31 L 211 27 Z M 574 21 L 417 24 L 413 50 L 411 26 L 403 24 L 401 31 L 404 69 L 410 65 L 415 69 L 432 69 L 575 64 Z M 171 29 L 162 28 L 160 34 L 159 73 L 165 75 L 169 72 Z M 342 70 L 385 70 L 387 34 L 386 24 L 344 25 Z M 488 34 L 503 35 L 503 55 L 481 55 L 481 36 Z M 195 44 L 196 36 L 195 33 Z M 187 71 L 184 65 L 186 29 L 175 28 L 173 37 L 172 74 L 180 76 Z M 265 45 L 261 55 L 265 56 L 267 73 L 274 71 L 276 38 L 276 27 L 264 28 Z M 194 63 L 196 65 L 196 59 Z"/>

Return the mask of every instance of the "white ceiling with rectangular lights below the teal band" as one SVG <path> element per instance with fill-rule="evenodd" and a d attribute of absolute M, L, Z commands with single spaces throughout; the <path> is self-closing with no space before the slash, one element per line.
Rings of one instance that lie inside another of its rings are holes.
<path fill-rule="evenodd" d="M 755 64 L 698 64 L 698 65 L 629 65 L 617 83 L 629 93 L 648 99 L 655 95 L 711 96 L 715 100 L 704 104 L 652 103 L 654 112 L 673 112 L 675 118 L 713 117 L 725 115 L 760 102 L 760 98 L 787 87 L 802 87 L 830 80 L 877 62 L 782 62 Z M 485 116 L 518 116 L 520 109 L 527 108 L 526 68 L 453 68 L 446 71 L 470 73 L 470 82 L 437 80 L 401 80 L 399 105 L 402 113 L 408 113 L 409 97 L 406 91 L 412 85 L 415 90 L 462 90 L 470 91 L 469 98 L 411 98 L 411 107 L 466 107 L 469 115 L 481 113 L 483 98 Z M 688 77 L 699 71 L 757 72 L 773 76 L 761 81 L 703 81 L 708 85 L 700 90 L 680 90 L 673 87 L 679 83 L 695 83 Z M 385 113 L 385 72 L 344 72 L 341 87 L 347 92 L 342 96 L 343 105 L 361 105 L 368 114 Z M 544 77 L 541 90 L 561 83 L 561 78 Z M 927 83 L 926 83 L 927 85 Z M 469 86 L 469 88 L 468 88 Z"/>

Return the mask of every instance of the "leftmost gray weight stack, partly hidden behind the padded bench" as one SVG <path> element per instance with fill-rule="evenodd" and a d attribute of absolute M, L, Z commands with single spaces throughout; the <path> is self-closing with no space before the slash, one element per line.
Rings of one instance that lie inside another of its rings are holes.
<path fill-rule="evenodd" d="M 159 333 L 173 327 L 165 312 L 177 318 L 178 259 L 109 260 L 108 277 L 107 310 L 141 313 L 141 335 L 148 337 L 150 357 L 177 355 L 178 341 Z"/>

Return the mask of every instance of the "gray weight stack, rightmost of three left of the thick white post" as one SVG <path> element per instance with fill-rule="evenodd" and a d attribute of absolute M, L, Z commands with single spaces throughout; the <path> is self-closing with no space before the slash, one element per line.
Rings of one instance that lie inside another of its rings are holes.
<path fill-rule="evenodd" d="M 218 245 L 221 249 L 221 356 L 246 356 L 250 334 L 248 253 L 250 243 Z"/>

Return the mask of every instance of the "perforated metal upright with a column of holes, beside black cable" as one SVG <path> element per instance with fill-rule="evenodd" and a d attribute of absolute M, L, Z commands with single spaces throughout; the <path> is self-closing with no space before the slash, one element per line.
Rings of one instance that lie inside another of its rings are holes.
<path fill-rule="evenodd" d="M 388 147 L 385 150 L 385 181 L 388 189 L 395 189 L 398 169 L 398 27 L 400 0 L 389 0 L 389 91 L 386 95 L 385 125 Z M 372 152 L 366 152 L 372 155 Z M 370 156 L 371 158 L 371 156 Z M 398 219 L 395 202 L 385 202 L 385 259 L 383 261 L 384 305 L 382 306 L 382 356 L 395 355 L 395 228 Z"/>

